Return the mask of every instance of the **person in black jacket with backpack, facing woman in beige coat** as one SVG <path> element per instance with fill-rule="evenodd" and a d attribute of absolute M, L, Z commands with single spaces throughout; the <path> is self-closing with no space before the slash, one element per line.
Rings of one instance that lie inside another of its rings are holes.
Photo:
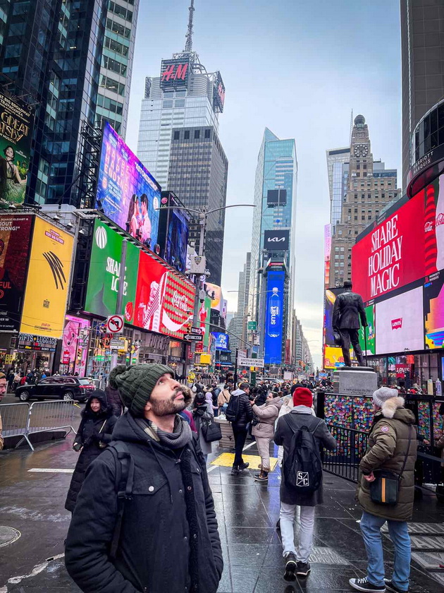
<path fill-rule="evenodd" d="M 245 463 L 242 459 L 242 449 L 247 440 L 247 424 L 253 419 L 253 410 L 248 394 L 249 384 L 240 383 L 239 389 L 231 393 L 230 401 L 225 412 L 226 419 L 231 422 L 235 439 L 235 458 L 233 468 L 231 469 L 232 475 L 240 474 L 249 466 L 249 463 Z"/>

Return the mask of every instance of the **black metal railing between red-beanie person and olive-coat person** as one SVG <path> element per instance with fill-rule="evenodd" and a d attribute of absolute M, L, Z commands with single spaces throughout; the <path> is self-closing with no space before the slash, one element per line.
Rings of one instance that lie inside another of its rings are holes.
<path fill-rule="evenodd" d="M 349 481 L 357 482 L 359 462 L 367 448 L 369 433 L 346 429 L 343 426 L 328 425 L 336 439 L 335 451 L 323 452 L 323 469 Z"/>

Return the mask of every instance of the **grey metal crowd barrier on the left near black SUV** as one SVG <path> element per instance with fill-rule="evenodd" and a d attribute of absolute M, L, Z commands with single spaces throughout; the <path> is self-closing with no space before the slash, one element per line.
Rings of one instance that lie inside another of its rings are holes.
<path fill-rule="evenodd" d="M 0 416 L 3 424 L 1 434 L 4 438 L 21 436 L 34 450 L 29 439 L 30 434 L 70 429 L 74 431 L 75 402 L 34 402 L 20 404 L 1 404 Z"/>

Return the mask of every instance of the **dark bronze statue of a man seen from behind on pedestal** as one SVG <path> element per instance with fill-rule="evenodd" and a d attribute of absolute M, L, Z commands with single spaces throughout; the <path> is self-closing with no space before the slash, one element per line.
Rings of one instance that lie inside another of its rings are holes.
<path fill-rule="evenodd" d="M 362 357 L 362 349 L 359 345 L 359 318 L 361 318 L 363 328 L 368 325 L 364 303 L 360 294 L 352 292 L 352 282 L 350 280 L 345 280 L 344 288 L 345 292 L 338 294 L 333 306 L 333 330 L 338 331 L 342 337 L 345 366 L 351 366 L 352 364 L 350 360 L 350 341 L 359 365 L 364 366 L 364 357 Z"/>

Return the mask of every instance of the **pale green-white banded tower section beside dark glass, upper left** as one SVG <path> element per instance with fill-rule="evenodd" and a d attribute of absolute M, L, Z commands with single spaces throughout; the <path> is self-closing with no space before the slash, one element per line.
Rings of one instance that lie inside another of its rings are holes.
<path fill-rule="evenodd" d="M 139 0 L 114 0 L 106 13 L 95 124 L 125 138 Z"/>

